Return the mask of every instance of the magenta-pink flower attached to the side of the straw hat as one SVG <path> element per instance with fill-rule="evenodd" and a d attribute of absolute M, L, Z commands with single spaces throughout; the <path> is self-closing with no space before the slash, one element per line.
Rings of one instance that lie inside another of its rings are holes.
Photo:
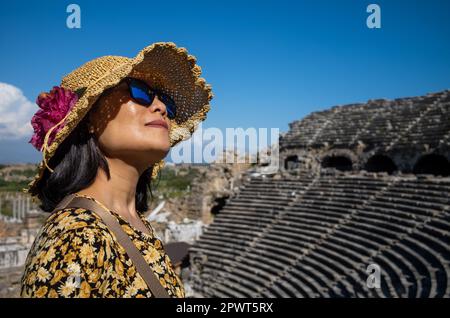
<path fill-rule="evenodd" d="M 31 119 L 34 134 L 29 141 L 37 150 L 41 150 L 47 132 L 67 115 L 77 101 L 76 93 L 59 86 L 54 86 L 49 93 L 39 94 L 36 104 L 40 109 Z M 59 125 L 53 129 L 48 137 L 48 144 L 53 142 L 62 127 L 63 125 Z"/>

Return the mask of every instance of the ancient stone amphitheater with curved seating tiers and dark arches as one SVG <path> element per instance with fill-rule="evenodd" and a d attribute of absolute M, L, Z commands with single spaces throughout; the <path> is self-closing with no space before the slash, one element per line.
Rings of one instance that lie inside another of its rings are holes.
<path fill-rule="evenodd" d="M 450 296 L 450 91 L 314 112 L 280 159 L 191 248 L 197 296 Z"/>

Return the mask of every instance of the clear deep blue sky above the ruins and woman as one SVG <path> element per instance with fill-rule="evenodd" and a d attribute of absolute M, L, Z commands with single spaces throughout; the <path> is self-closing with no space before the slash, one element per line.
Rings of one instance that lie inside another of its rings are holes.
<path fill-rule="evenodd" d="M 287 131 L 334 105 L 450 88 L 445 0 L 0 3 L 0 82 L 32 103 L 88 60 L 133 57 L 156 41 L 197 57 L 215 94 L 204 127 Z M 81 7 L 81 29 L 66 27 L 70 3 Z M 370 3 L 381 7 L 381 29 L 366 26 Z M 0 162 L 38 161 L 28 139 L 0 138 Z"/>

